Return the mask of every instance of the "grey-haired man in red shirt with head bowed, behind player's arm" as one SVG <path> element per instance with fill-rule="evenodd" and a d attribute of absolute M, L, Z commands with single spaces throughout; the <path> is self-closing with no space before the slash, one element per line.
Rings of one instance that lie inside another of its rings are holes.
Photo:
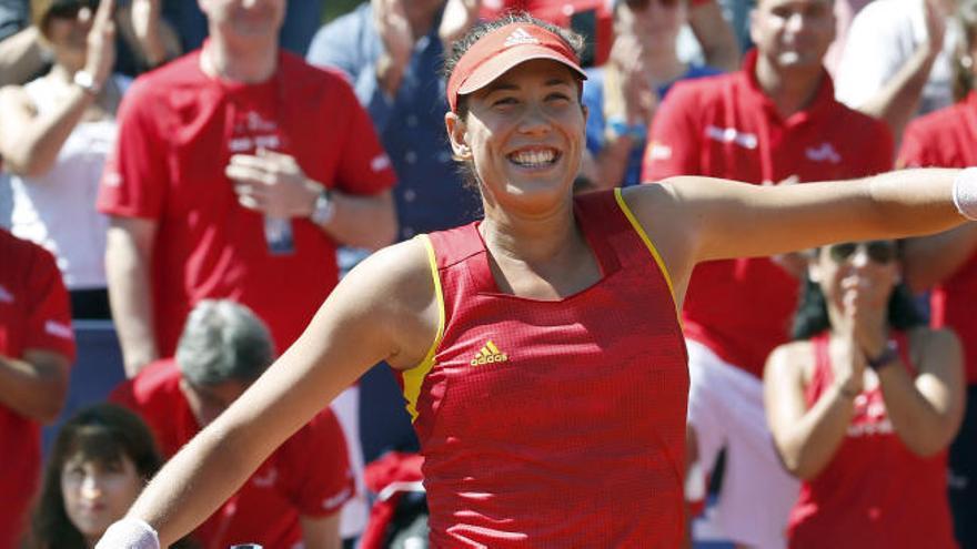
<path fill-rule="evenodd" d="M 138 411 L 171 457 L 215 419 L 273 359 L 264 324 L 243 305 L 204 299 L 190 314 L 174 359 L 158 360 L 110 399 Z M 230 451 L 230 450 L 229 450 Z M 325 408 L 292 435 L 198 528 L 203 547 L 340 547 L 339 514 L 353 496 L 346 447 Z"/>

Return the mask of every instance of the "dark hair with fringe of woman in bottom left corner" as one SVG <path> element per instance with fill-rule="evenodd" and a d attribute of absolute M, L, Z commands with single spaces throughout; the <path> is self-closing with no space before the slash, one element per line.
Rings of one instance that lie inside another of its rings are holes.
<path fill-rule="evenodd" d="M 80 455 L 84 460 L 118 462 L 128 457 L 141 478 L 149 480 L 162 458 L 149 427 L 132 411 L 114 404 L 97 404 L 80 410 L 61 426 L 48 462 L 41 491 L 31 517 L 27 549 L 84 549 L 87 542 L 64 510 L 61 470 Z"/>

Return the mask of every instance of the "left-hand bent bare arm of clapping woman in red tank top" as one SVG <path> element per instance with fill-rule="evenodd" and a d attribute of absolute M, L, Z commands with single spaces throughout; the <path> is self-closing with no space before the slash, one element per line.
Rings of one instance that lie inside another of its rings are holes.
<path fill-rule="evenodd" d="M 810 344 L 796 342 L 774 349 L 764 370 L 764 405 L 780 461 L 800 479 L 816 477 L 840 446 L 852 423 L 860 385 L 833 384 L 809 409 L 804 398 L 804 362 Z"/>

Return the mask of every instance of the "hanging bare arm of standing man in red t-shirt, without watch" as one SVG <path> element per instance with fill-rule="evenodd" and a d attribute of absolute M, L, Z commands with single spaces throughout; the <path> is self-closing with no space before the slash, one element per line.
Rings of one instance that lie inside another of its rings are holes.
<path fill-rule="evenodd" d="M 119 333 L 125 376 L 130 378 L 159 358 L 150 295 L 150 262 L 155 234 L 154 221 L 112 217 L 105 243 L 112 318 Z"/>

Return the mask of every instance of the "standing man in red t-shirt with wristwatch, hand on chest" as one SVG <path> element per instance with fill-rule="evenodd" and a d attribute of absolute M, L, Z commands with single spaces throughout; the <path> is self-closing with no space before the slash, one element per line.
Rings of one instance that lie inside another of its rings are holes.
<path fill-rule="evenodd" d="M 202 0 L 210 39 L 138 79 L 99 207 L 127 373 L 173 353 L 203 298 L 278 348 L 335 285 L 335 245 L 390 243 L 394 173 L 345 78 L 279 50 L 284 0 Z"/>

